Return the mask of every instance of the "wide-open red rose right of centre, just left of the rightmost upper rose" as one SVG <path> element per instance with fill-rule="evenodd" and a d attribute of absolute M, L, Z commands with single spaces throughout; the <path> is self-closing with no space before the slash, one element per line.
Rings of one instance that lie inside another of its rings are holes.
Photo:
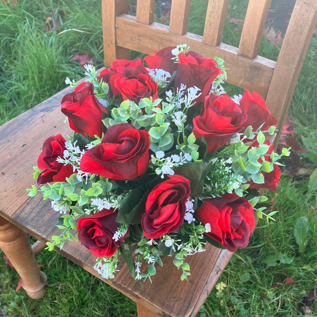
<path fill-rule="evenodd" d="M 204 136 L 207 151 L 213 152 L 242 130 L 246 117 L 244 110 L 229 97 L 210 94 L 200 115 L 193 119 L 193 133 L 196 138 Z"/>

